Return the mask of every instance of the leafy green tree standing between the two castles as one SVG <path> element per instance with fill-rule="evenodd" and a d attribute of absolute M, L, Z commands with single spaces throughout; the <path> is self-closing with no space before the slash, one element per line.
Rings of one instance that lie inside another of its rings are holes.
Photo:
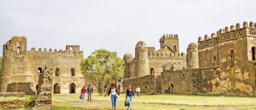
<path fill-rule="evenodd" d="M 81 69 L 86 82 L 96 86 L 100 95 L 107 92 L 111 82 L 117 81 L 123 75 L 123 60 L 116 52 L 99 49 L 92 52 L 81 62 Z"/>

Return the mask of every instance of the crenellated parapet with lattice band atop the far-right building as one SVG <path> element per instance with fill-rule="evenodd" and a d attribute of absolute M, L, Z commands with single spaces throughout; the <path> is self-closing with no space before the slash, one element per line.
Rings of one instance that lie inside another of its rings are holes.
<path fill-rule="evenodd" d="M 248 25 L 248 23 L 244 21 L 242 28 L 240 24 L 237 23 L 236 26 L 231 25 L 230 29 L 226 26 L 225 29 L 218 30 L 216 34 L 212 33 L 211 38 L 208 37 L 207 34 L 204 36 L 204 40 L 198 37 L 198 49 L 245 36 L 256 37 L 256 23 L 254 24 L 254 22 L 251 21 Z"/>

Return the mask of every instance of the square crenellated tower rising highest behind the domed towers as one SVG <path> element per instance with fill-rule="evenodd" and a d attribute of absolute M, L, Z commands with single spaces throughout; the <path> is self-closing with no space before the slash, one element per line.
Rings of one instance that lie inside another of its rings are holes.
<path fill-rule="evenodd" d="M 160 39 L 160 48 L 168 48 L 171 53 L 179 53 L 179 39 L 178 34 L 164 34 Z"/>

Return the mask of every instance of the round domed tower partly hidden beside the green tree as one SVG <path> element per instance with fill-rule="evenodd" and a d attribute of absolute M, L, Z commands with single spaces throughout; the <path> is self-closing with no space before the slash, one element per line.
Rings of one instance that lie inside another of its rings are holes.
<path fill-rule="evenodd" d="M 123 56 L 124 65 L 125 65 L 123 79 L 130 78 L 130 60 L 132 59 L 133 59 L 133 55 L 130 53 L 126 53 Z"/>

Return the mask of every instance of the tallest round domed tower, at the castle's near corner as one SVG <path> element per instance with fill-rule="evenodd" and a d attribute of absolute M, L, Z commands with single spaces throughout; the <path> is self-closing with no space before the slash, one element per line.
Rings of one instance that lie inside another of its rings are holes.
<path fill-rule="evenodd" d="M 139 41 L 135 47 L 134 78 L 149 75 L 149 61 L 147 58 L 147 46 Z"/>

